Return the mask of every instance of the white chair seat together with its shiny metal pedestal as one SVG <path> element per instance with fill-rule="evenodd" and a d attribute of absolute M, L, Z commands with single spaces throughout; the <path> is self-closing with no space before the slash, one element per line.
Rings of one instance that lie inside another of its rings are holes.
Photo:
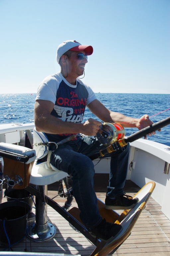
<path fill-rule="evenodd" d="M 52 165 L 51 165 L 52 166 Z M 29 228 L 28 237 L 36 242 L 47 241 L 51 239 L 56 229 L 52 223 L 47 221 L 47 185 L 67 177 L 67 173 L 59 171 L 54 166 L 53 170 L 48 169 L 47 162 L 37 164 L 35 161 L 31 171 L 30 184 L 28 187 L 30 193 L 36 196 L 36 220 Z"/>

